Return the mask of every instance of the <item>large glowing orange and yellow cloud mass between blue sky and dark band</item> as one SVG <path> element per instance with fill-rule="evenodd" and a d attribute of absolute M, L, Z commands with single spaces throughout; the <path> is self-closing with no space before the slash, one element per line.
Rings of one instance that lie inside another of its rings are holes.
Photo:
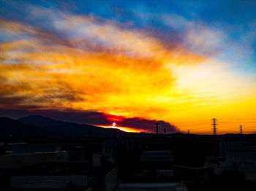
<path fill-rule="evenodd" d="M 255 112 L 255 83 L 244 85 L 225 63 L 181 44 L 167 48 L 146 31 L 111 20 L 56 15 L 54 31 L 0 21 L 1 30 L 20 36 L 0 44 L 0 106 L 93 110 L 174 124 L 231 117 L 227 106 Z M 193 34 L 189 42 L 204 39 Z M 238 103 L 244 97 L 250 104 Z"/>

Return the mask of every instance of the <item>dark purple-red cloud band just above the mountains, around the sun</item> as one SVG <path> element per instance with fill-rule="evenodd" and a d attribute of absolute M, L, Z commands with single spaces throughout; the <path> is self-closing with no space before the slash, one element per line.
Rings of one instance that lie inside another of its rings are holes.
<path fill-rule="evenodd" d="M 155 132 L 156 122 L 159 123 L 159 132 L 161 133 L 165 128 L 167 133 L 178 132 L 178 128 L 175 125 L 171 125 L 169 122 L 158 121 L 158 120 L 146 120 L 140 117 L 122 117 L 115 116 L 111 114 L 105 114 L 102 112 L 92 112 L 92 111 L 77 111 L 77 110 L 37 110 L 37 109 L 0 109 L 0 116 L 19 118 L 25 117 L 29 114 L 40 114 L 46 117 L 52 117 L 55 120 L 85 123 L 89 125 L 98 126 L 110 126 L 113 122 L 116 122 L 117 127 L 132 128 L 135 130 L 142 130 L 148 133 Z M 162 129 L 162 130 L 161 130 Z"/>

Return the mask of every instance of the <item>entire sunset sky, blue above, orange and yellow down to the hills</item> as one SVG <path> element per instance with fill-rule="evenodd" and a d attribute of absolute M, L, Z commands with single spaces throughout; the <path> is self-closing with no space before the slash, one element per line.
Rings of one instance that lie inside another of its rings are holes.
<path fill-rule="evenodd" d="M 256 1 L 0 0 L 0 115 L 256 133 Z"/>

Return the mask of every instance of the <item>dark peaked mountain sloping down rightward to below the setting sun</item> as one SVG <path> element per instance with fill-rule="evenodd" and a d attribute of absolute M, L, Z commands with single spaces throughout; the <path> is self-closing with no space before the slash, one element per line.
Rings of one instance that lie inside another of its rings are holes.
<path fill-rule="evenodd" d="M 126 132 L 113 128 L 100 128 L 93 125 L 77 124 L 73 122 L 62 122 L 53 120 L 50 117 L 43 117 L 40 115 L 30 115 L 28 117 L 22 117 L 18 119 L 19 122 L 23 122 L 26 125 L 33 125 L 37 128 L 42 128 L 50 132 L 54 136 L 73 136 L 73 137 L 111 137 L 119 136 L 120 134 L 127 134 Z"/>

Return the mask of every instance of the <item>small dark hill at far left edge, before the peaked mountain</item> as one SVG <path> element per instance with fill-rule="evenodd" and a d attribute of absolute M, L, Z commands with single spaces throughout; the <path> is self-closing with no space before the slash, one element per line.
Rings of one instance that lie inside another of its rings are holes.
<path fill-rule="evenodd" d="M 12 120 L 8 117 L 0 117 L 0 136 L 26 136 L 45 134 L 44 130 L 26 125 L 17 120 Z"/>

